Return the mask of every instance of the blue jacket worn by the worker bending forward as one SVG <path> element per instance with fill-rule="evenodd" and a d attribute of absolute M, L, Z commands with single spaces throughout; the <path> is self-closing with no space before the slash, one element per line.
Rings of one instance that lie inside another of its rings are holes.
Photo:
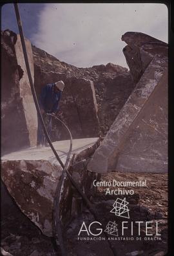
<path fill-rule="evenodd" d="M 39 97 L 39 104 L 46 113 L 56 113 L 59 110 L 59 100 L 61 99 L 62 92 L 54 92 L 54 83 L 46 84 L 41 91 Z"/>

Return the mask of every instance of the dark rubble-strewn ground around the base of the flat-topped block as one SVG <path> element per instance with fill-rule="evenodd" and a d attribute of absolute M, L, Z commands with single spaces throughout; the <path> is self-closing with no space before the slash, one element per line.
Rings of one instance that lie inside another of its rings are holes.
<path fill-rule="evenodd" d="M 162 256 L 167 250 L 167 218 L 168 218 L 168 175 L 167 174 L 133 174 L 112 172 L 107 176 L 102 176 L 103 181 L 138 181 L 146 180 L 146 187 L 127 187 L 134 189 L 135 194 L 126 197 L 129 202 L 130 220 L 129 221 L 158 221 L 160 240 L 146 240 L 145 227 L 140 228 L 142 240 L 117 240 L 111 244 L 117 251 L 117 256 L 131 255 L 150 255 Z M 94 209 L 99 221 L 105 225 L 108 220 L 114 221 L 115 216 L 110 213 L 115 202 L 115 195 L 105 195 L 107 187 L 100 187 L 95 197 L 91 197 Z M 110 187 L 110 189 L 112 189 Z M 113 189 L 117 189 L 114 187 Z M 119 196 L 123 198 L 123 196 Z M 64 229 L 64 239 L 68 247 L 68 255 L 72 256 L 105 256 L 113 255 L 108 246 L 107 240 L 77 240 L 79 229 L 83 221 L 86 226 L 94 220 L 88 209 L 83 207 L 79 216 L 73 216 Z M 124 218 L 124 220 L 127 220 Z M 122 218 L 117 218 L 117 224 Z M 135 227 L 136 229 L 137 227 Z M 15 256 L 53 256 L 61 255 L 53 248 L 53 240 L 42 235 L 41 231 L 24 216 L 17 207 L 11 211 L 3 212 L 1 222 L 1 246 Z M 134 229 L 133 229 L 134 230 Z M 153 226 L 152 231 L 155 230 Z M 108 235 L 110 236 L 110 235 Z M 101 235 L 101 237 L 103 237 Z M 133 235 L 133 237 L 137 237 Z M 135 252 L 136 251 L 136 252 Z M 5 255 L 5 253 L 3 254 Z"/>

